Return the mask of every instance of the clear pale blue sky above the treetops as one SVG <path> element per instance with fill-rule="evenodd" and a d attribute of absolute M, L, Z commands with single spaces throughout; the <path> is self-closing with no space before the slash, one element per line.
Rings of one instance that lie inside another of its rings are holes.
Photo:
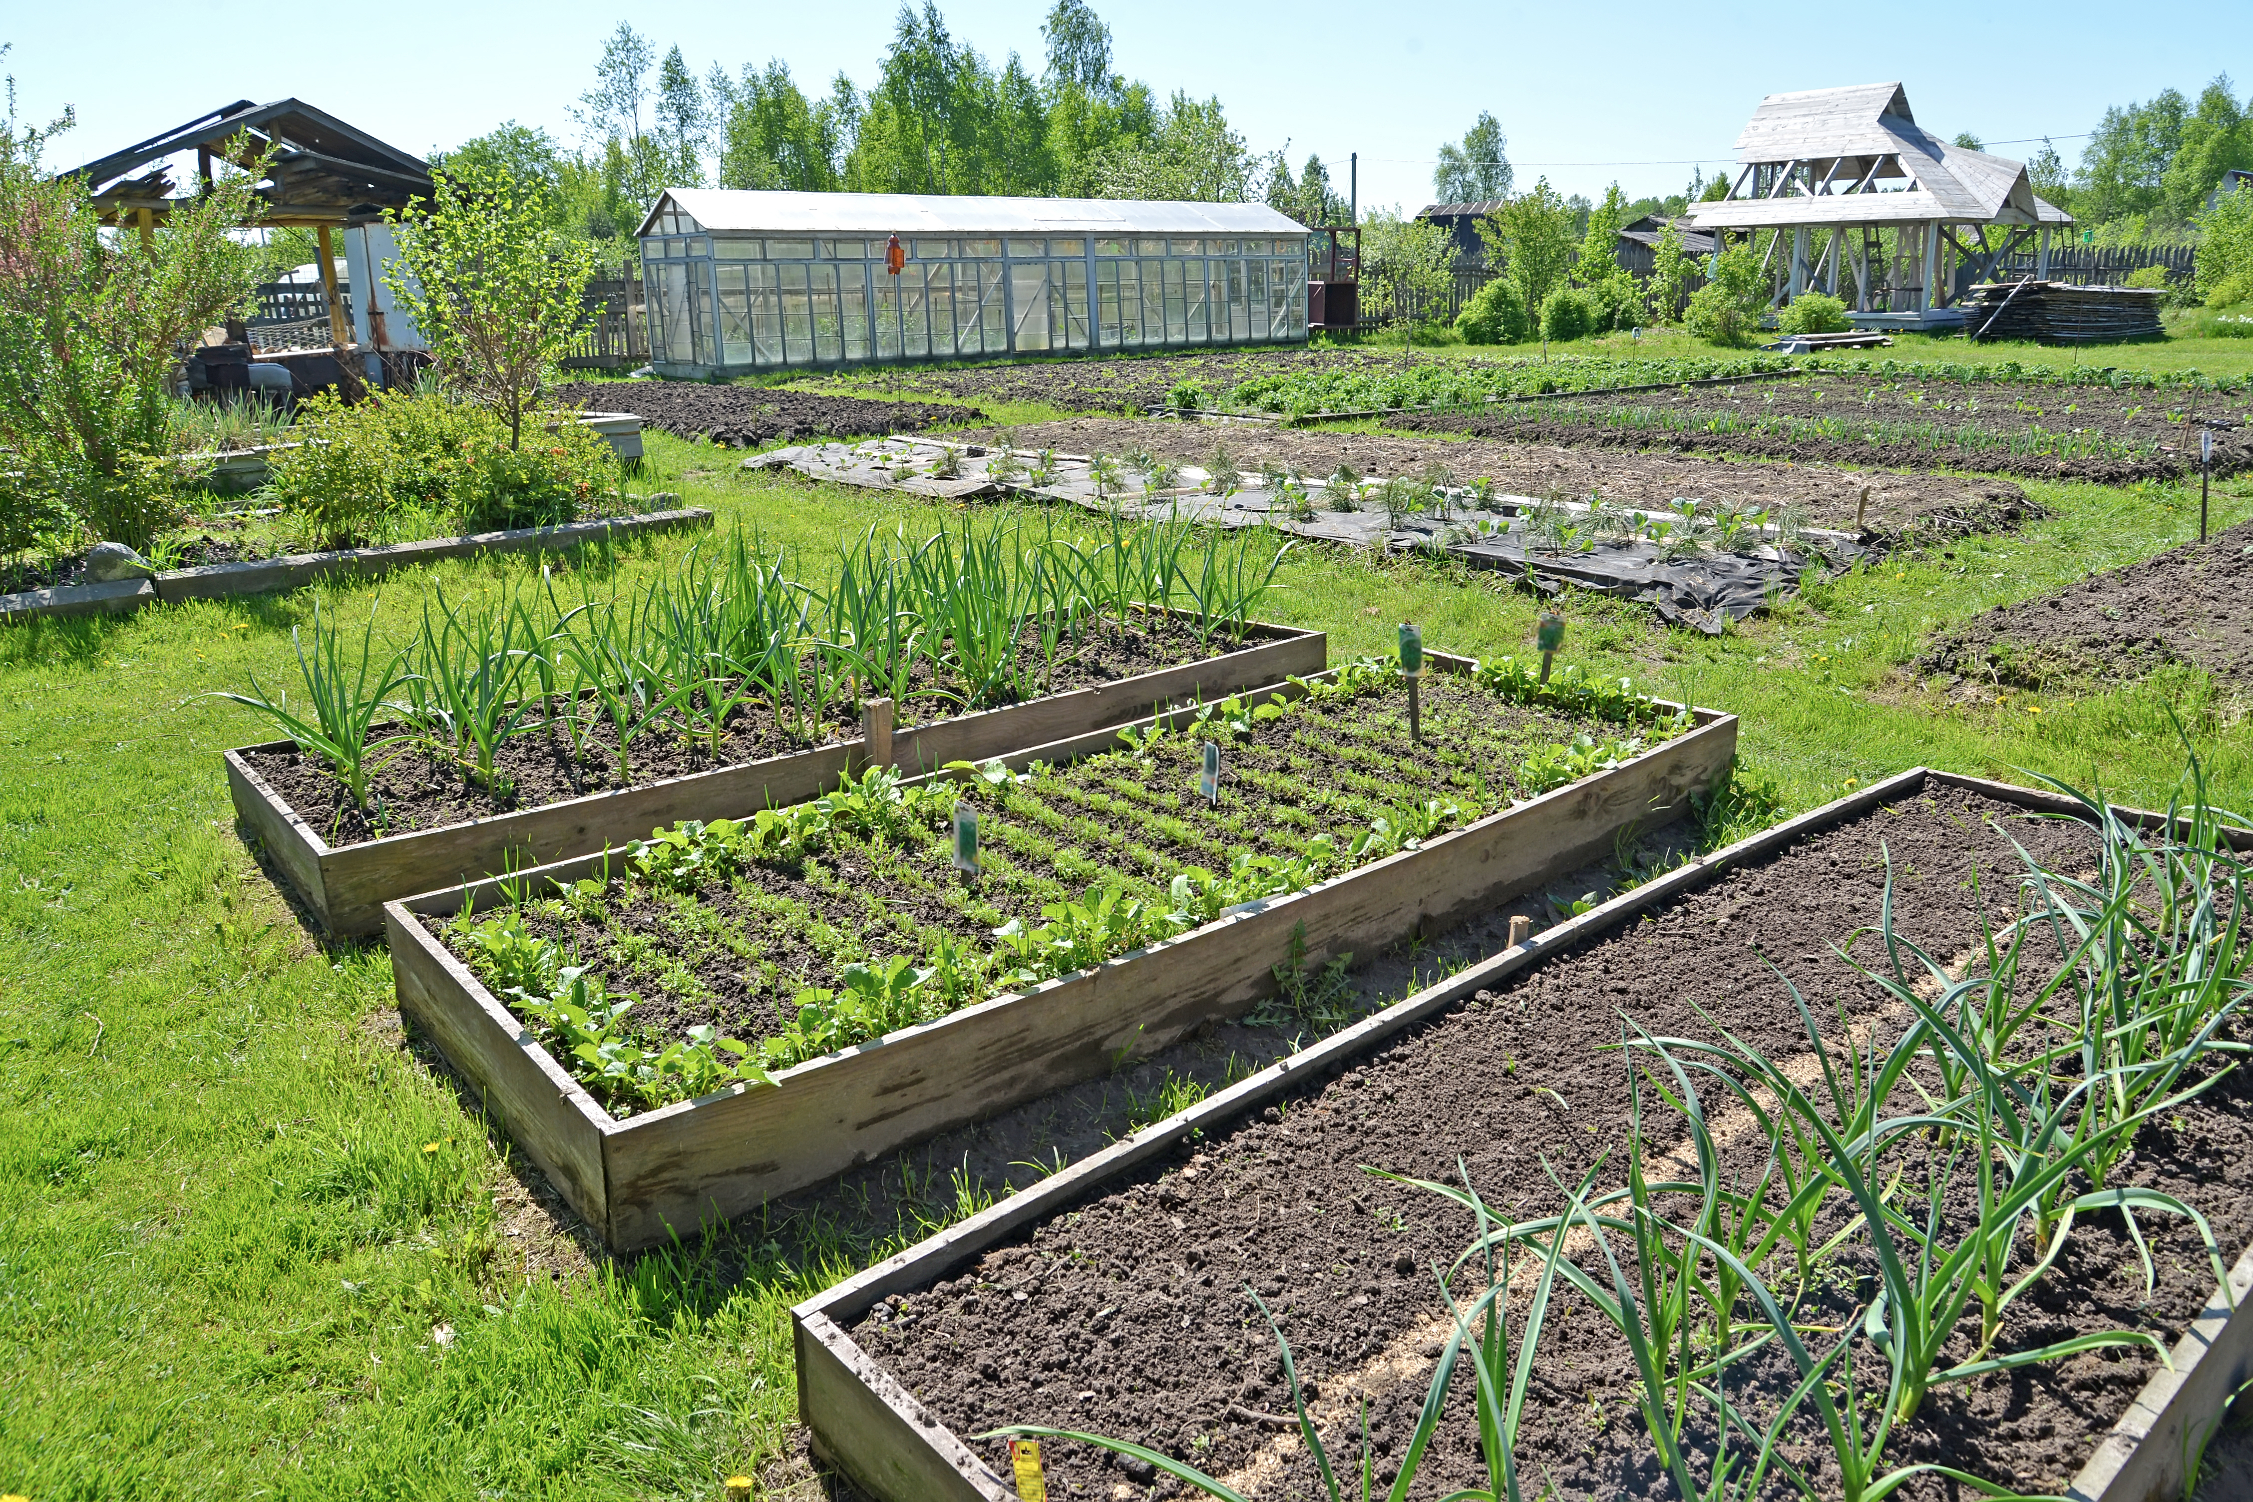
<path fill-rule="evenodd" d="M 14 9 L 14 7 L 11 7 Z M 989 59 L 1041 56 L 1039 0 L 942 5 L 955 41 Z M 1230 122 L 1293 164 L 1320 151 L 1345 187 L 1361 153 L 1361 200 L 1419 207 L 1431 162 L 1478 110 L 1510 135 L 1519 185 L 1629 196 L 1678 189 L 1694 164 L 1730 158 L 1764 92 L 1899 79 L 1917 119 L 1987 142 L 2057 137 L 2073 160 L 2109 104 L 2163 88 L 2194 95 L 2215 72 L 2253 83 L 2244 0 L 2185 0 L 2165 27 L 2122 25 L 2116 5 L 2055 0 L 2039 20 L 1992 7 L 1872 11 L 1829 27 L 1820 11 L 1748 5 L 1210 5 L 1095 0 L 1117 65 L 1160 90 L 1219 95 Z M 547 5 L 282 7 L 25 5 L 0 20 L 14 43 L 20 110 L 63 104 L 79 128 L 54 146 L 79 162 L 153 135 L 230 99 L 297 95 L 410 151 L 451 146 L 502 119 L 572 137 L 570 104 L 593 77 L 604 36 L 624 18 L 660 52 L 680 43 L 703 74 L 780 56 L 800 86 L 845 70 L 876 77 L 897 0 L 622 9 L 615 0 Z M 131 41 L 128 41 L 131 38 Z M 2185 38 L 2199 38 L 2185 45 Z M 126 45 L 122 45 L 126 43 Z M 2028 155 L 2037 146 L 1996 146 Z"/>

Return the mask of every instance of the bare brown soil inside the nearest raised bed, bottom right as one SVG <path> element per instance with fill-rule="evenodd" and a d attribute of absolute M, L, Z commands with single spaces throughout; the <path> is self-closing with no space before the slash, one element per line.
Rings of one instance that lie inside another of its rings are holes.
<path fill-rule="evenodd" d="M 1904 937 L 1944 957 L 1967 955 L 1980 923 L 1974 892 L 2003 894 L 2007 910 L 2007 874 L 2019 867 L 2005 835 L 1983 822 L 1989 815 L 2046 865 L 2086 860 L 2086 829 L 1929 790 L 1480 993 L 1286 1110 L 1185 1144 L 973 1270 L 879 1306 L 854 1335 L 955 1434 L 1000 1423 L 1095 1430 L 1190 1457 L 1255 1497 L 1313 1495 L 1318 1479 L 1298 1441 L 1266 1419 L 1289 1396 L 1273 1340 L 1244 1297 L 1250 1284 L 1282 1317 L 1313 1383 L 1332 1455 L 1354 1446 L 1350 1432 L 1368 1403 L 1379 1475 L 1390 1479 L 1446 1329 L 1428 1266 L 1469 1241 L 1471 1221 L 1428 1191 L 1370 1178 L 1363 1164 L 1446 1180 L 1460 1162 L 1505 1214 L 1559 1209 L 1543 1160 L 1573 1180 L 1627 1135 L 1620 1063 L 1597 1052 L 1618 1043 L 1622 1011 L 1658 1034 L 1706 1034 L 1699 1002 L 1746 1043 L 1805 1056 L 1805 1031 L 1762 964 L 1773 959 L 1818 1016 L 1843 1004 L 1847 1016 L 1884 1018 L 1877 991 L 1827 946 L 1877 919 L 1890 853 Z M 1854 953 L 1874 964 L 1874 939 L 1859 939 Z M 2147 1133 L 2129 1169 L 2134 1182 L 2199 1203 L 2224 1248 L 2253 1236 L 2253 1200 L 2219 1191 L 2230 1173 L 2246 1173 L 2253 1146 L 2244 1128 L 2253 1101 L 2233 1083 L 2185 1112 L 2181 1130 Z M 2068 1261 L 2012 1306 L 2003 1349 L 2073 1329 L 2140 1326 L 2163 1338 L 2181 1329 L 2212 1279 L 2179 1227 L 2147 1221 L 2145 1230 L 2156 1232 L 2158 1266 L 2149 1302 L 2118 1223 L 2082 1221 Z M 1850 1290 L 1834 1295 L 1843 1320 L 1854 1308 Z M 1586 1306 L 1566 1304 L 1543 1338 L 1521 1464 L 1537 1486 L 1552 1482 L 1568 1500 L 1665 1491 L 1629 1412 L 1624 1347 Z M 2152 1367 L 2140 1353 L 2084 1353 L 1938 1387 L 1888 1457 L 1949 1459 L 2021 1488 L 2061 1491 Z M 1469 1412 L 1458 1371 L 1413 1495 L 1482 1482 Z M 1692 1441 L 1710 1443 L 1710 1434 Z M 973 1443 L 1007 1473 L 1000 1446 Z M 1090 1450 L 1045 1450 L 1052 1486 L 1145 1495 L 1129 1486 L 1133 1473 Z"/>

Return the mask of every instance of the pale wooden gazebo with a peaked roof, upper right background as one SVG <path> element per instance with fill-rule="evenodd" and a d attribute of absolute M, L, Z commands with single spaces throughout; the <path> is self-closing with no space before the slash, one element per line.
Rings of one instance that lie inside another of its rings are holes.
<path fill-rule="evenodd" d="M 1690 221 L 1724 245 L 1773 230 L 1775 302 L 1823 290 L 1863 329 L 1962 324 L 1958 299 L 2030 236 L 2048 277 L 2050 230 L 2073 223 L 2034 196 L 2023 162 L 1920 126 L 1899 83 L 1769 95 L 1737 162 L 1728 196 L 1692 203 Z"/>

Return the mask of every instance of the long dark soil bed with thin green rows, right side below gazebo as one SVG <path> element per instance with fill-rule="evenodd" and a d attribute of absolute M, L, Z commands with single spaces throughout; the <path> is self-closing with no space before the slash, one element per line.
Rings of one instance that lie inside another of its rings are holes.
<path fill-rule="evenodd" d="M 2239 394 L 1811 376 L 1735 387 L 1401 412 L 1392 428 L 1573 448 L 1735 453 L 2129 484 L 2197 473 L 2188 417 L 2253 417 Z M 2253 466 L 2253 430 L 2215 435 L 2215 473 Z"/>

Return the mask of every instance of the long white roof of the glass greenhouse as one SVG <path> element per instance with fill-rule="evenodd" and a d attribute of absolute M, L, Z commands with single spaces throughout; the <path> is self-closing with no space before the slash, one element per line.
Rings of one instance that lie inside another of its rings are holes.
<path fill-rule="evenodd" d="M 1304 234 L 1264 203 L 1145 198 L 978 198 L 955 194 L 789 194 L 674 187 L 667 198 L 712 232 L 750 234 Z"/>

